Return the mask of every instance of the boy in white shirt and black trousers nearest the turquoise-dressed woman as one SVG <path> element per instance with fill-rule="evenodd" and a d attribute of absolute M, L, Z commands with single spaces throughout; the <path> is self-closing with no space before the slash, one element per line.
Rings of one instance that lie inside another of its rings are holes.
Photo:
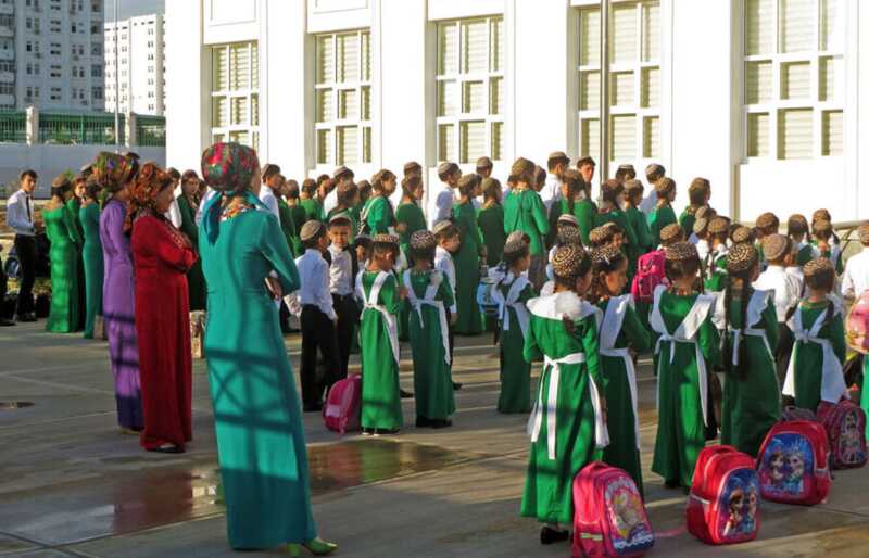
<path fill-rule="evenodd" d="M 329 264 L 323 258 L 329 245 L 326 227 L 318 220 L 310 220 L 302 226 L 300 237 L 305 253 L 295 259 L 302 283 L 299 289 L 299 303 L 302 305 L 302 366 L 299 377 L 304 410 L 314 413 L 323 409 L 323 393 L 328 382 L 326 378 L 324 382 L 317 382 L 317 352 L 329 376 L 338 370 L 335 337 L 338 315 L 329 292 Z"/>

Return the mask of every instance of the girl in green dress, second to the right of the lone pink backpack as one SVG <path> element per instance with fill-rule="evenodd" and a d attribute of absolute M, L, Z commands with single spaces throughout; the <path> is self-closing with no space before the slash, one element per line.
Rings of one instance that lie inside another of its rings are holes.
<path fill-rule="evenodd" d="M 438 241 L 428 230 L 411 236 L 413 269 L 402 274 L 411 306 L 410 338 L 414 359 L 416 428 L 446 428 L 455 413 L 448 308 L 453 305 L 450 279 L 433 270 Z"/>

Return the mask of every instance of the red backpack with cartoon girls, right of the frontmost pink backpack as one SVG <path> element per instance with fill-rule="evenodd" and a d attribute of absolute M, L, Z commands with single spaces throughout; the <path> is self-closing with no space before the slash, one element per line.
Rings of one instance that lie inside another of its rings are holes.
<path fill-rule="evenodd" d="M 729 445 L 704 447 L 685 508 L 688 531 L 711 545 L 753 541 L 760 528 L 754 459 Z"/>

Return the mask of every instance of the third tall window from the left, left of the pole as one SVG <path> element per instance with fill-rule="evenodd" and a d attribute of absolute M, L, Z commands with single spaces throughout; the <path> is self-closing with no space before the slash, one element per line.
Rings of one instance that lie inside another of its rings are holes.
<path fill-rule="evenodd" d="M 504 18 L 438 24 L 438 160 L 504 157 Z"/>

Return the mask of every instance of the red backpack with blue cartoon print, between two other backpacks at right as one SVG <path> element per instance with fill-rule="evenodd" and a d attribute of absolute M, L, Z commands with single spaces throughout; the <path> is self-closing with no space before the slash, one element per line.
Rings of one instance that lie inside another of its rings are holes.
<path fill-rule="evenodd" d="M 782 504 L 814 506 L 830 492 L 827 432 L 818 422 L 774 424 L 757 454 L 760 495 Z"/>

